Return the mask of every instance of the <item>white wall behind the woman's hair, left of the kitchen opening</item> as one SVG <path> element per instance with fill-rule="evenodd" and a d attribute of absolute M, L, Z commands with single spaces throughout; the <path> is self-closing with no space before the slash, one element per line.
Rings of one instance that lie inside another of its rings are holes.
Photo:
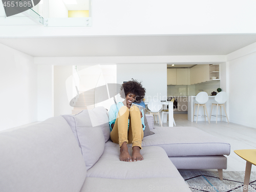
<path fill-rule="evenodd" d="M 117 65 L 117 83 L 132 78 L 142 81 L 146 89 L 146 97 L 165 99 L 167 96 L 167 65 L 166 64 L 121 64 Z"/>

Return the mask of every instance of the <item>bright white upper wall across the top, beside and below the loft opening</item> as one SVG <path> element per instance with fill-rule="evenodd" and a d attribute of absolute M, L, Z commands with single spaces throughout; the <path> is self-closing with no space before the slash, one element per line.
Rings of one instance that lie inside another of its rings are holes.
<path fill-rule="evenodd" d="M 17 26 L 1 36 L 255 33 L 255 9 L 253 0 L 92 1 L 92 27 Z"/>

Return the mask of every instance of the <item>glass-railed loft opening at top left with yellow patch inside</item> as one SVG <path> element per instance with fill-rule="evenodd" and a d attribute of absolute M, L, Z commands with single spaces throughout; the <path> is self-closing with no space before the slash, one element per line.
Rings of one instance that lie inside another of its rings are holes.
<path fill-rule="evenodd" d="M 19 0 L 22 2 L 25 0 Z M 26 0 L 28 1 L 28 0 Z M 3 2 L 0 1 L 0 26 L 13 25 L 44 25 L 45 27 L 90 27 L 92 26 L 91 0 L 76 1 L 77 5 L 65 4 L 60 1 L 56 6 L 54 1 L 34 0 L 34 7 L 28 10 L 6 16 Z M 14 4 L 15 5 L 15 4 Z M 77 9 L 82 10 L 77 10 Z M 44 19 L 44 18 L 45 19 Z"/>

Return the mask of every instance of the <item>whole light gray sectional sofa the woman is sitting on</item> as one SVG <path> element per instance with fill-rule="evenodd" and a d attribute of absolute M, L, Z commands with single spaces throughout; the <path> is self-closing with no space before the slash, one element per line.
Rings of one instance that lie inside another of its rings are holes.
<path fill-rule="evenodd" d="M 102 107 L 0 133 L 1 192 L 190 191 L 177 168 L 227 166 L 230 146 L 194 127 L 158 127 L 143 161 L 119 161 Z M 131 150 L 131 147 L 129 148 Z"/>

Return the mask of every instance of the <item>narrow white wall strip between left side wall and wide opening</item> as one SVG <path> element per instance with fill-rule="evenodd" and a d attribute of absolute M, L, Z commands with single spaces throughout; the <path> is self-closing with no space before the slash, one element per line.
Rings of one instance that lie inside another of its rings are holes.
<path fill-rule="evenodd" d="M 44 121 L 54 112 L 53 66 L 38 65 L 37 69 L 37 120 Z"/>

